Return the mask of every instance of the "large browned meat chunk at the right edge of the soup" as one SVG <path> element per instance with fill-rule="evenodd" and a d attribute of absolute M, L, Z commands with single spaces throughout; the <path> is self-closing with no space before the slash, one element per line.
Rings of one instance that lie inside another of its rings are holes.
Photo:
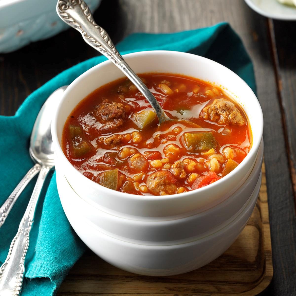
<path fill-rule="evenodd" d="M 234 103 L 226 99 L 215 99 L 212 104 L 205 107 L 200 115 L 204 119 L 215 121 L 219 124 L 234 124 L 244 126 L 246 120 L 242 117 Z"/>

